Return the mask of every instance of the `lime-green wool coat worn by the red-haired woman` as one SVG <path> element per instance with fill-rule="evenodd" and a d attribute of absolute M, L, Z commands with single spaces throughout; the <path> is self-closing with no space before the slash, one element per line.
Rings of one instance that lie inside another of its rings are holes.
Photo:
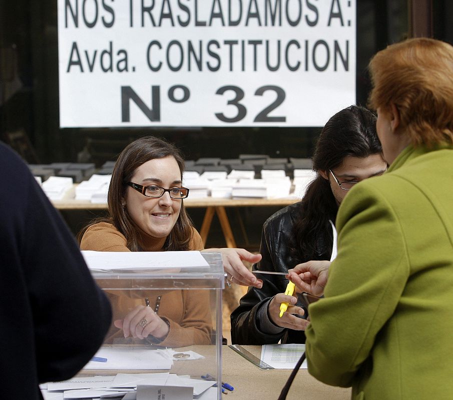
<path fill-rule="evenodd" d="M 453 398 L 453 146 L 406 147 L 340 205 L 308 370 L 353 399 Z"/>

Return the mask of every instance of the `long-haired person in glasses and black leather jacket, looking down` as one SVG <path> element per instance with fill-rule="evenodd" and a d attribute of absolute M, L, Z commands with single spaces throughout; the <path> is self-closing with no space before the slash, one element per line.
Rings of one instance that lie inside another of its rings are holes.
<path fill-rule="evenodd" d="M 262 259 L 253 270 L 287 272 L 301 262 L 329 260 L 338 205 L 354 183 L 380 175 L 386 167 L 376 133 L 376 116 L 371 111 L 351 105 L 333 115 L 316 142 L 316 178 L 301 201 L 265 221 Z M 256 275 L 263 279 L 262 288 L 249 287 L 231 314 L 232 343 L 304 343 L 307 311 L 296 295 L 284 294 L 286 276 Z M 280 317 L 282 302 L 289 306 Z"/>

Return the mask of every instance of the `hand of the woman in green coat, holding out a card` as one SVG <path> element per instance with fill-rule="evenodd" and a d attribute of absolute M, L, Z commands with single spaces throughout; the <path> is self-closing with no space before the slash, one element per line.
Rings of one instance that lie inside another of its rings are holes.
<path fill-rule="evenodd" d="M 296 292 L 306 291 L 320 296 L 327 283 L 330 261 L 307 261 L 288 270 L 289 279 L 296 285 Z"/>

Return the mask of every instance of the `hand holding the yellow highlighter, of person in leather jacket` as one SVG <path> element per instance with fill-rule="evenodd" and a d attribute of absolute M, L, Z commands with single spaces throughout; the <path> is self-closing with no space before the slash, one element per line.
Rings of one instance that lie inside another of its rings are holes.
<path fill-rule="evenodd" d="M 280 304 L 283 302 L 288 303 L 288 308 L 280 318 Z M 274 322 L 277 326 L 280 326 L 282 328 L 305 330 L 309 321 L 303 318 L 299 318 L 296 315 L 292 315 L 292 314 L 297 315 L 304 314 L 303 308 L 298 307 L 296 305 L 292 305 L 295 304 L 296 302 L 297 298 L 294 296 L 288 296 L 285 293 L 276 294 L 272 298 L 272 300 L 270 300 L 267 309 L 271 321 Z"/>

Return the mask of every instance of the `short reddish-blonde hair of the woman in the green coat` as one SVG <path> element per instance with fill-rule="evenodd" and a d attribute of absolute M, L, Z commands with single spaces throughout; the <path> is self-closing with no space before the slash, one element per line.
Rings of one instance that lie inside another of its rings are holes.
<path fill-rule="evenodd" d="M 425 37 L 387 46 L 369 62 L 369 106 L 399 111 L 414 146 L 453 142 L 453 46 Z"/>

